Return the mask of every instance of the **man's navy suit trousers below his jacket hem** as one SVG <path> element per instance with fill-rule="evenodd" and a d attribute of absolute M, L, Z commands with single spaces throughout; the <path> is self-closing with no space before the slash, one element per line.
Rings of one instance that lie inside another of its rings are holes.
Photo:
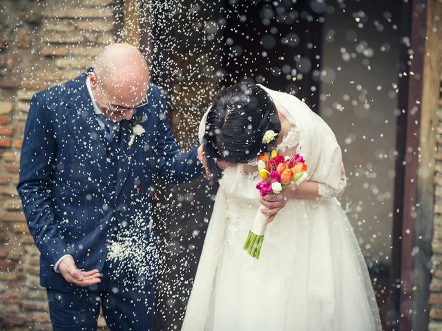
<path fill-rule="evenodd" d="M 100 307 L 111 331 L 153 330 L 155 280 L 115 270 L 106 261 L 102 282 L 75 293 L 47 289 L 53 330 L 95 331 Z"/>

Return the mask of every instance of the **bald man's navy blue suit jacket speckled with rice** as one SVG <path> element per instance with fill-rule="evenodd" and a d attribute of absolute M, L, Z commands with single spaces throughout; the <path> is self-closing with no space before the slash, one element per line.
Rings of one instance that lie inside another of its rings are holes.
<path fill-rule="evenodd" d="M 153 241 L 152 229 L 135 225 L 134 219 L 148 221 L 151 216 L 149 193 L 155 176 L 182 183 L 203 171 L 196 148 L 179 150 L 169 126 L 166 101 L 153 84 L 148 88 L 148 105 L 134 110 L 134 116 L 144 117 L 146 132 L 128 149 L 133 120 L 120 122 L 117 165 L 113 166 L 108 141 L 86 88 L 86 75 L 32 97 L 17 186 L 30 233 L 41 252 L 41 285 L 55 291 L 54 295 L 66 293 L 66 297 L 68 293 L 85 295 L 97 288 L 84 289 L 66 282 L 53 270 L 60 257 L 70 254 L 77 268 L 97 268 L 112 274 L 106 255 L 115 234 L 129 229 L 143 240 Z M 131 275 L 118 275 L 139 276 L 136 270 Z M 144 291 L 153 293 L 154 283 L 155 277 L 151 277 Z M 48 292 L 50 303 L 53 293 Z M 153 297 L 148 301 L 153 305 Z M 151 310 L 148 314 L 148 321 L 139 316 L 148 323 L 145 330 L 151 328 Z"/>

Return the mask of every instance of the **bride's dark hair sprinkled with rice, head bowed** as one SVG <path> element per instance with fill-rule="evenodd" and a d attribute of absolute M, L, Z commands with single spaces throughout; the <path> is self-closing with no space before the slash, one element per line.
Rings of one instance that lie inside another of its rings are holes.
<path fill-rule="evenodd" d="M 281 123 L 276 106 L 259 86 L 239 83 L 222 90 L 209 110 L 203 143 L 207 166 L 214 179 L 222 177 L 217 159 L 247 163 L 271 150 L 262 143 L 267 130 L 279 134 Z"/>

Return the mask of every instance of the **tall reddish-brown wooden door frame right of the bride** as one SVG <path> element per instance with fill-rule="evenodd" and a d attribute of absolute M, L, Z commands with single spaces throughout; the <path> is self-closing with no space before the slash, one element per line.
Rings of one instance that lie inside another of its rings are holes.
<path fill-rule="evenodd" d="M 403 2 L 400 46 L 396 179 L 392 239 L 392 284 L 398 285 L 398 330 L 424 330 L 428 324 L 431 239 L 434 208 L 434 156 L 439 99 L 440 37 L 434 32 L 435 0 Z M 438 7 L 439 8 L 439 7 Z M 439 10 L 442 10 L 439 8 Z M 441 33 L 441 32 L 439 32 Z M 438 41 L 439 40 L 439 41 Z M 397 329 L 396 329 L 397 330 Z"/>

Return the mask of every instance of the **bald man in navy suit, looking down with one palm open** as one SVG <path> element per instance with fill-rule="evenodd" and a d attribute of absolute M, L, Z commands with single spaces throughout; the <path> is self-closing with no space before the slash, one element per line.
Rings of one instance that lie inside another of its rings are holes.
<path fill-rule="evenodd" d="M 203 169 L 196 149 L 177 146 L 142 54 L 106 46 L 93 68 L 35 94 L 20 167 L 53 330 L 96 330 L 100 307 L 111 330 L 152 330 L 151 185 L 190 181 Z M 120 242 L 126 259 L 109 253 Z"/>

